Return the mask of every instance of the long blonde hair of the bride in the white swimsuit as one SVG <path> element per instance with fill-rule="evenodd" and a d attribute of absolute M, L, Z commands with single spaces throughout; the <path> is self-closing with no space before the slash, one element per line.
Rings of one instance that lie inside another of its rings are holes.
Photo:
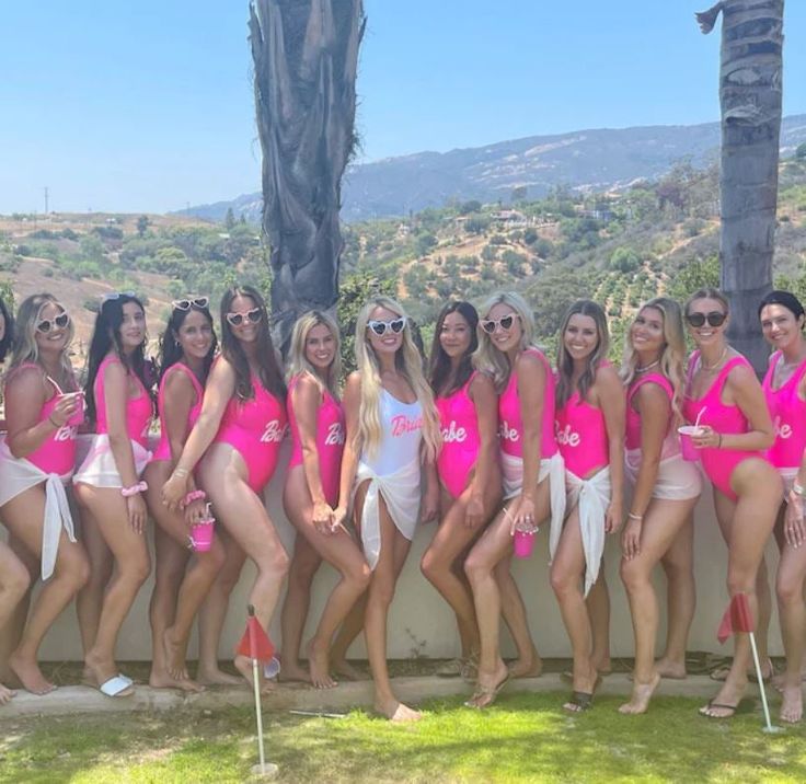
<path fill-rule="evenodd" d="M 434 404 L 434 393 L 423 372 L 423 358 L 412 339 L 408 316 L 401 305 L 389 297 L 373 297 L 361 308 L 356 319 L 356 365 L 361 376 L 361 404 L 358 411 L 358 433 L 356 437 L 367 453 L 375 457 L 381 442 L 381 373 L 378 357 L 367 338 L 369 314 L 376 308 L 384 308 L 405 319 L 403 345 L 398 349 L 394 364 L 398 372 L 408 381 L 417 401 L 423 407 L 423 440 L 429 459 L 435 459 L 441 445 L 439 415 Z"/>

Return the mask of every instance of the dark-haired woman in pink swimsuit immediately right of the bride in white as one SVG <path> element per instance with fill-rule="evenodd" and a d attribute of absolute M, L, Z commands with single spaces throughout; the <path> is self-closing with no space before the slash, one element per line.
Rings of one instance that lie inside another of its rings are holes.
<path fill-rule="evenodd" d="M 492 379 L 474 371 L 479 314 L 468 302 L 449 302 L 434 333 L 430 384 L 436 395 L 442 449 L 440 519 L 421 568 L 457 616 L 461 659 L 437 675 L 475 679 L 481 642 L 464 556 L 500 508 L 497 396 Z"/>

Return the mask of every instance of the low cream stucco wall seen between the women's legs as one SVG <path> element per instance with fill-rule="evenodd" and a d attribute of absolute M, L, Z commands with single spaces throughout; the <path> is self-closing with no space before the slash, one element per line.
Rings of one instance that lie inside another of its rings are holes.
<path fill-rule="evenodd" d="M 285 449 L 288 449 L 286 445 Z M 280 465 L 284 464 L 283 458 Z M 293 531 L 285 519 L 281 508 L 281 487 L 284 472 L 278 471 L 266 491 L 267 507 L 275 521 L 286 547 L 291 550 Z M 727 603 L 725 574 L 727 552 L 719 537 L 713 515 L 711 491 L 706 491 L 695 512 L 695 577 L 698 608 L 689 639 L 690 650 L 710 650 L 729 653 L 730 644 L 724 647 L 716 642 L 716 627 Z M 444 658 L 458 653 L 459 642 L 452 613 L 436 590 L 419 573 L 419 558 L 434 534 L 434 524 L 421 526 L 414 539 L 408 561 L 398 585 L 398 591 L 389 619 L 389 656 L 390 658 L 410 658 L 414 654 L 425 657 Z M 520 586 L 529 612 L 532 636 L 543 656 L 565 657 L 569 655 L 568 641 L 562 624 L 556 601 L 548 579 L 548 538 L 546 530 L 541 531 L 539 543 L 529 561 L 515 564 L 515 576 Z M 768 566 L 774 575 L 778 555 L 771 541 L 768 551 Z M 606 551 L 606 569 L 612 602 L 611 646 L 614 656 L 633 655 L 633 633 L 630 611 L 624 588 L 619 579 L 620 549 L 618 537 L 608 542 Z M 658 569 L 658 572 L 660 572 Z M 232 596 L 230 612 L 224 626 L 219 654 L 221 658 L 231 656 L 232 648 L 243 632 L 245 621 L 246 597 L 253 579 L 253 567 L 244 566 L 241 581 Z M 313 601 L 308 622 L 307 634 L 310 634 L 324 606 L 330 589 L 335 583 L 335 573 L 326 564 L 316 575 L 313 588 Z M 658 585 L 663 588 L 664 578 L 658 574 Z M 148 624 L 148 602 L 151 596 L 152 580 L 143 586 L 137 601 L 127 618 L 118 642 L 119 659 L 150 659 L 151 635 Z M 661 609 L 665 599 L 661 593 Z M 770 635 L 770 649 L 773 655 L 782 654 L 776 619 L 773 618 Z M 270 630 L 272 638 L 278 643 L 279 609 Z M 661 627 L 660 634 L 665 634 Z M 661 636 L 663 639 L 663 636 Z M 504 654 L 514 655 L 514 646 L 504 634 Z M 191 647 L 191 658 L 195 656 L 195 635 Z M 365 658 L 364 641 L 359 639 L 350 650 L 352 658 Z M 50 630 L 42 649 L 43 660 L 78 660 L 81 658 L 81 645 L 74 609 L 68 608 L 56 625 Z"/>

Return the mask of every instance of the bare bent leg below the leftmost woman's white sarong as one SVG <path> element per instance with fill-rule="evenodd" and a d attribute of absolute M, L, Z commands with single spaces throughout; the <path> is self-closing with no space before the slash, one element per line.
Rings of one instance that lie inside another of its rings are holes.
<path fill-rule="evenodd" d="M 12 498 L 2 509 L 3 520 L 24 546 L 42 557 L 42 531 L 45 524 L 45 486 L 31 487 Z M 9 667 L 33 694 L 47 694 L 56 687 L 39 670 L 37 654 L 45 634 L 70 603 L 90 576 L 84 549 L 71 542 L 62 531 L 59 538 L 53 576 L 36 597 L 28 622 Z"/>

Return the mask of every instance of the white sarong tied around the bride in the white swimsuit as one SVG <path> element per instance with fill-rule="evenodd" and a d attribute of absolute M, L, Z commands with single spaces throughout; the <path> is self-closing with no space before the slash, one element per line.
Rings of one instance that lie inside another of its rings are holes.
<path fill-rule="evenodd" d="M 379 476 L 364 462 L 358 463 L 353 494 L 369 480 L 361 510 L 361 544 L 369 568 L 375 570 L 381 554 L 380 496 L 396 529 L 408 540 L 414 539 L 419 516 L 419 458 L 394 473 Z"/>

